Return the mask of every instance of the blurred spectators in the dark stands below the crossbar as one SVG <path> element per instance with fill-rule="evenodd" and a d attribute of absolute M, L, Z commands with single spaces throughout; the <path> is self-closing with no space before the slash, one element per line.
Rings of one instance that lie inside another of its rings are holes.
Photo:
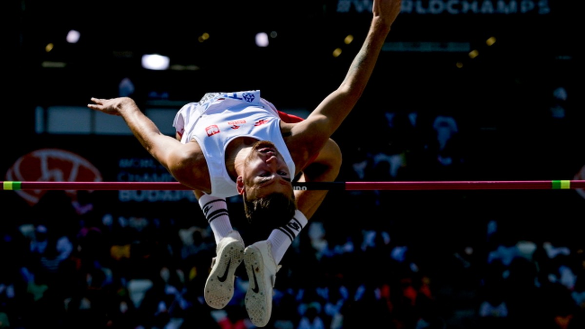
<path fill-rule="evenodd" d="M 243 304 L 245 271 L 225 309 L 203 300 L 215 243 L 196 204 L 191 218 L 163 220 L 98 207 L 78 214 L 68 201 L 46 194 L 34 217 L 3 223 L 0 327 L 253 328 Z M 460 232 L 468 237 L 461 241 L 444 232 L 416 238 L 415 228 L 402 231 L 408 217 L 391 220 L 383 206 L 364 211 L 364 204 L 343 201 L 353 207 L 324 205 L 328 218 L 320 213 L 309 222 L 285 255 L 269 327 L 585 324 L 579 244 L 522 239 L 495 219 Z"/>

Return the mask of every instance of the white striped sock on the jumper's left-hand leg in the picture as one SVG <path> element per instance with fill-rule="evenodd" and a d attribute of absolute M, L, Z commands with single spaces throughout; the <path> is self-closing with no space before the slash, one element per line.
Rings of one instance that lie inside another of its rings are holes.
<path fill-rule="evenodd" d="M 204 194 L 199 198 L 199 206 L 207 218 L 211 231 L 214 232 L 215 244 L 219 244 L 219 240 L 233 231 L 232 223 L 229 221 L 228 203 L 225 198 Z"/>

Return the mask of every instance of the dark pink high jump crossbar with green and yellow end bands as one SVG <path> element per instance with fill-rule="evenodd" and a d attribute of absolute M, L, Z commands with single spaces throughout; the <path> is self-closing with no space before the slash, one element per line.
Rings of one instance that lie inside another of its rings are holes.
<path fill-rule="evenodd" d="M 192 190 L 174 181 L 2 181 L 2 190 Z M 295 190 L 570 190 L 585 180 L 321 181 L 293 183 Z"/>

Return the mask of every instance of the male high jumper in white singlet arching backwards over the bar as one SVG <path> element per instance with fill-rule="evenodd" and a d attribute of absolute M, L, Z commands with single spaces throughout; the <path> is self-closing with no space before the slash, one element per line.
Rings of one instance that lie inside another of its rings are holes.
<path fill-rule="evenodd" d="M 229 303 L 244 261 L 250 320 L 258 327 L 269 322 L 278 263 L 326 194 L 293 190 L 291 182 L 336 179 L 341 154 L 330 137 L 361 97 L 400 8 L 401 0 L 373 1 L 369 32 L 345 79 L 301 121 L 277 111 L 260 91 L 209 93 L 178 111 L 172 138 L 130 98 L 91 98 L 88 107 L 122 116 L 143 147 L 198 197 L 217 244 L 204 290 L 209 306 Z M 249 220 L 274 221 L 267 240 L 245 247 L 233 230 L 225 198 L 238 194 Z"/>

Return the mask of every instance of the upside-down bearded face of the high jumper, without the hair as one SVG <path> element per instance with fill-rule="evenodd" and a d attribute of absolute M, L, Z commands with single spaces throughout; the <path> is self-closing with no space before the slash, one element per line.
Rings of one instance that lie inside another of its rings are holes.
<path fill-rule="evenodd" d="M 243 175 L 238 177 L 238 191 L 253 200 L 271 193 L 292 194 L 291 173 L 283 156 L 273 143 L 254 143 L 244 162 Z"/>

